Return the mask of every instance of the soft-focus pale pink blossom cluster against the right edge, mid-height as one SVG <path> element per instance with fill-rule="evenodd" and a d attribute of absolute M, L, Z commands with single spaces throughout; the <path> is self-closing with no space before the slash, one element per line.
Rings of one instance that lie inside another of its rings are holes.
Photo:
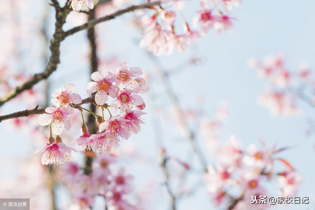
<path fill-rule="evenodd" d="M 260 102 L 272 114 L 299 114 L 301 110 L 297 106 L 298 99 L 314 104 L 315 80 L 305 62 L 295 71 L 286 68 L 280 55 L 267 56 L 262 61 L 251 59 L 249 64 L 257 69 L 259 77 L 270 84 L 269 89 L 261 94 Z"/>

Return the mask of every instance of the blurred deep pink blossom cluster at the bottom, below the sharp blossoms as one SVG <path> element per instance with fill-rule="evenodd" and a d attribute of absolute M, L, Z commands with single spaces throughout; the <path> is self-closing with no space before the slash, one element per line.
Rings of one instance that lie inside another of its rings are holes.
<path fill-rule="evenodd" d="M 71 192 L 70 209 L 88 210 L 95 206 L 95 197 L 105 198 L 106 207 L 115 210 L 134 210 L 128 201 L 132 176 L 125 168 L 115 170 L 116 157 L 102 153 L 95 157 L 92 173 L 86 174 L 75 162 L 69 162 L 61 170 L 61 180 Z"/>

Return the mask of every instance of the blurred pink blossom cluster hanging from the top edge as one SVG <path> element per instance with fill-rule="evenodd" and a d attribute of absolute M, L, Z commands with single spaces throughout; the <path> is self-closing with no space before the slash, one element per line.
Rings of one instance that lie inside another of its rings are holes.
<path fill-rule="evenodd" d="M 169 55 L 176 48 L 182 52 L 190 42 L 211 29 L 230 32 L 234 18 L 229 12 L 240 3 L 241 0 L 200 0 L 200 10 L 189 24 L 182 11 L 184 0 L 164 0 L 160 8 L 142 15 L 140 24 L 144 35 L 139 45 L 157 56 Z M 182 21 L 177 21 L 181 17 Z"/>

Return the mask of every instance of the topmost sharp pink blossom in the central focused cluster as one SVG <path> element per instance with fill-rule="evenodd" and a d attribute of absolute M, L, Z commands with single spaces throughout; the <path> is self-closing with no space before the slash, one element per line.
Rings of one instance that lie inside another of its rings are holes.
<path fill-rule="evenodd" d="M 120 84 L 123 84 L 126 89 L 137 90 L 140 88 L 140 83 L 138 81 L 141 80 L 141 78 L 138 79 L 137 77 L 142 75 L 142 70 L 138 67 L 128 69 L 127 65 L 127 62 L 122 63 L 117 69 L 115 73 L 116 85 L 119 86 Z M 138 79 L 138 81 L 136 79 Z M 141 83 L 141 85 L 143 85 L 143 83 Z"/>

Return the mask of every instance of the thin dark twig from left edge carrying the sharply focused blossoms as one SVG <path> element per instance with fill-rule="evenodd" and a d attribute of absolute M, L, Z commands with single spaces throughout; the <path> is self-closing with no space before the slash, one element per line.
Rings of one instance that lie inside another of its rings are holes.
<path fill-rule="evenodd" d="M 83 104 L 91 104 L 94 102 L 94 96 L 83 99 L 81 104 L 71 104 L 71 106 L 73 108 L 80 108 L 81 105 Z M 46 108 L 46 107 L 45 107 Z M 33 108 L 33 109 L 26 109 L 23 111 L 17 111 L 11 114 L 7 114 L 7 115 L 2 115 L 0 116 L 0 122 L 2 122 L 3 120 L 8 120 L 8 119 L 14 119 L 14 118 L 20 118 L 20 117 L 28 117 L 34 114 L 44 114 L 45 112 L 45 108 L 38 108 L 38 105 Z"/>

